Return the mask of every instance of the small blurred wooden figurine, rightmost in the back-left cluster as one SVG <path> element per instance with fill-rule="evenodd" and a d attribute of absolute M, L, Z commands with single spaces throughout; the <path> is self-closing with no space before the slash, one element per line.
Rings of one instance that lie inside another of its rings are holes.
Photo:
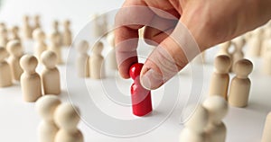
<path fill-rule="evenodd" d="M 64 23 L 64 31 L 62 33 L 62 43 L 65 47 L 70 47 L 72 42 L 72 35 L 70 31 L 70 21 L 66 20 Z"/>

